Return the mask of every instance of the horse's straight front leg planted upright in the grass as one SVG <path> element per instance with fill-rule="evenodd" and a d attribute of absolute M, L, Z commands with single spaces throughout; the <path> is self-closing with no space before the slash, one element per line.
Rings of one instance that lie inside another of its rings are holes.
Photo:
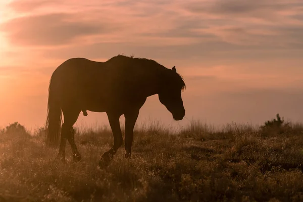
<path fill-rule="evenodd" d="M 131 145 L 133 142 L 133 132 L 135 123 L 139 115 L 139 110 L 133 110 L 124 114 L 125 117 L 125 158 L 131 156 Z"/>

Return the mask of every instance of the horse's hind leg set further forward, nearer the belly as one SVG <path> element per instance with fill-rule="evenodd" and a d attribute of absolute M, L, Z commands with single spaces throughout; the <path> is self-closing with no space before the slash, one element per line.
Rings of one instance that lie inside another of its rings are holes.
<path fill-rule="evenodd" d="M 75 130 L 73 125 L 76 123 L 80 114 L 80 110 L 63 110 L 64 123 L 62 124 L 62 136 L 64 136 L 70 143 L 73 153 L 73 161 L 78 162 L 81 160 L 81 155 L 77 150 L 75 143 Z"/>

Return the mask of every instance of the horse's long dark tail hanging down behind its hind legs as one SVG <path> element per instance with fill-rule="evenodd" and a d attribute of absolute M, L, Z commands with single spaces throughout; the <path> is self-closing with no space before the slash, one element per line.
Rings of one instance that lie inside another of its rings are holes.
<path fill-rule="evenodd" d="M 47 118 L 46 118 L 46 138 L 49 145 L 56 145 L 59 143 L 60 128 L 62 123 L 62 111 L 60 106 L 59 94 L 57 89 L 58 84 L 52 75 L 48 87 L 48 101 L 47 101 Z"/>

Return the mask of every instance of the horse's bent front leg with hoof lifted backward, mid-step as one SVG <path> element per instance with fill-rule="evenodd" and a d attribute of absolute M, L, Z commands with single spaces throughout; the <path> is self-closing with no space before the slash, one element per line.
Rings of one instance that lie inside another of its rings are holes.
<path fill-rule="evenodd" d="M 101 164 L 103 164 L 104 162 L 109 162 L 110 160 L 112 160 L 114 158 L 114 155 L 117 153 L 118 148 L 123 143 L 122 132 L 119 122 L 119 118 L 121 115 L 116 113 L 107 113 L 107 115 L 114 135 L 114 146 L 102 155 L 99 160 L 99 166 L 101 166 Z"/>

